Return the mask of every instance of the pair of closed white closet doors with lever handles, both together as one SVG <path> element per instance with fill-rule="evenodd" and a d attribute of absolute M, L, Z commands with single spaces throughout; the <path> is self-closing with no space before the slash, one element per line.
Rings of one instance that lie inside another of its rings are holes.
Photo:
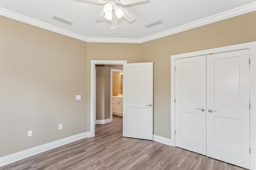
<path fill-rule="evenodd" d="M 249 50 L 176 59 L 175 145 L 250 162 Z"/>

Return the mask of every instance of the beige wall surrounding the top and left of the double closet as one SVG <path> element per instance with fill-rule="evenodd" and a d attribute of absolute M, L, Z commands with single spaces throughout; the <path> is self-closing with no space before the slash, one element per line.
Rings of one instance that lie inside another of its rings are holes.
<path fill-rule="evenodd" d="M 154 134 L 170 138 L 170 55 L 256 41 L 256 12 L 141 44 L 141 62 L 154 62 Z"/>

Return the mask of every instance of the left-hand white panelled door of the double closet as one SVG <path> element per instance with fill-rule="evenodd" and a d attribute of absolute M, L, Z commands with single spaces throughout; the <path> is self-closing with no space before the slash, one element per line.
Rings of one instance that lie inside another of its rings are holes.
<path fill-rule="evenodd" d="M 206 56 L 177 59 L 175 67 L 175 145 L 206 155 Z"/>

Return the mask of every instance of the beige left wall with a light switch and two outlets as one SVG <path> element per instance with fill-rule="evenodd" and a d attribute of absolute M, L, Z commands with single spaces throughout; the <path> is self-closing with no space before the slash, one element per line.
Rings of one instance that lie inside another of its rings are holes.
<path fill-rule="evenodd" d="M 0 16 L 0 156 L 87 131 L 86 44 Z"/>

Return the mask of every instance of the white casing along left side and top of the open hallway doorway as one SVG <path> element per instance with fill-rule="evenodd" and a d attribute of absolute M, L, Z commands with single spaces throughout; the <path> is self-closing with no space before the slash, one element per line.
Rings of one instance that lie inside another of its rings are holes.
<path fill-rule="evenodd" d="M 95 110 L 94 110 L 94 90 L 95 89 L 95 65 L 96 64 L 126 64 L 127 61 L 122 60 L 91 60 L 91 74 L 90 74 L 90 137 L 95 136 Z"/>

